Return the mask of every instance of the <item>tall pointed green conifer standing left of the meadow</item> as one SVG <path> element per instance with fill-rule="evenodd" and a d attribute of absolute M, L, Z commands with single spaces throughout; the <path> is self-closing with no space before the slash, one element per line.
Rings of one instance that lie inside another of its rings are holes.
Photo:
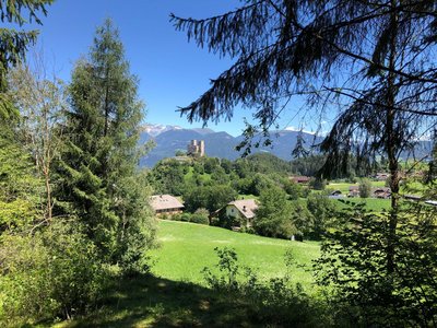
<path fill-rule="evenodd" d="M 137 85 L 118 31 L 106 20 L 72 74 L 59 166 L 64 210 L 75 212 L 102 255 L 129 268 L 153 237 L 145 183 L 137 172 L 143 109 Z"/>

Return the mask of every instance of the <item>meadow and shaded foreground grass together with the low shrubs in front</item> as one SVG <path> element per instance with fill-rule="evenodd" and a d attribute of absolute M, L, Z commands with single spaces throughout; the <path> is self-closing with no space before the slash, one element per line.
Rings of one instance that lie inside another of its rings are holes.
<path fill-rule="evenodd" d="M 110 285 L 99 311 L 55 326 L 320 326 L 314 313 L 326 309 L 312 298 L 307 271 L 320 254 L 318 243 L 175 221 L 158 227 L 161 247 L 150 254 L 153 276 Z"/>

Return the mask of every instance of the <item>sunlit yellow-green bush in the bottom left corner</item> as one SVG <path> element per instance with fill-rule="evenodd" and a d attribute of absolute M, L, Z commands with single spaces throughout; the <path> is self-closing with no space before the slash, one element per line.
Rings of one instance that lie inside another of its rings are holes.
<path fill-rule="evenodd" d="M 76 224 L 0 237 L 0 323 L 69 318 L 93 307 L 108 272 Z"/>

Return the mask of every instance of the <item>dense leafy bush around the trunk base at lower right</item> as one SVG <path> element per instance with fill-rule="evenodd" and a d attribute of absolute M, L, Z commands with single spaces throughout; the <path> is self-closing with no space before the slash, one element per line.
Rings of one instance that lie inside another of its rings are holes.
<path fill-rule="evenodd" d="M 435 326 L 436 209 L 405 204 L 397 216 L 393 236 L 390 213 L 366 212 L 361 206 L 344 210 L 317 260 L 319 283 L 330 285 L 342 315 L 358 326 Z"/>

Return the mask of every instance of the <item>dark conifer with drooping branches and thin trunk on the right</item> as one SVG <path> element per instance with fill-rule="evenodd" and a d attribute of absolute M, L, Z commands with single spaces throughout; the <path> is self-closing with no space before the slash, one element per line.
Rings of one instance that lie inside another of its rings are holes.
<path fill-rule="evenodd" d="M 172 15 L 176 28 L 198 46 L 234 59 L 181 114 L 206 122 L 231 119 L 238 104 L 253 108 L 259 126 L 249 126 L 246 136 L 251 138 L 274 126 L 296 97 L 307 99 L 311 114 L 335 110 L 320 144 L 327 154 L 323 177 L 347 168 L 355 152 L 361 159 L 385 154 L 388 160 L 391 211 L 386 243 L 377 248 L 383 258 L 378 279 L 383 296 L 395 295 L 390 278 L 403 269 L 397 249 L 402 232 L 400 156 L 437 125 L 436 2 L 240 2 L 203 20 Z"/>

